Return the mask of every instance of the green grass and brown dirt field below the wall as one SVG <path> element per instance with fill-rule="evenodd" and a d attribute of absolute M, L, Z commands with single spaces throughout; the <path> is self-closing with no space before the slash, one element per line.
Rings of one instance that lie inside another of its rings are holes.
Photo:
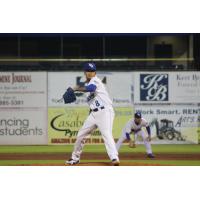
<path fill-rule="evenodd" d="M 145 148 L 122 146 L 121 165 L 175 165 L 200 166 L 200 145 L 152 145 L 155 159 L 146 158 Z M 73 150 L 72 145 L 62 146 L 0 146 L 0 165 L 64 165 Z M 92 156 L 91 156 L 92 155 Z M 91 158 L 90 158 L 91 156 Z M 103 145 L 86 145 L 82 165 L 110 163 Z"/>

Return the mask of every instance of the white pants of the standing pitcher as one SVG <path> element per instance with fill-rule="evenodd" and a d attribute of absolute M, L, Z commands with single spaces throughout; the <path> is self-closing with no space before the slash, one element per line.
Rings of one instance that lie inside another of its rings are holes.
<path fill-rule="evenodd" d="M 114 120 L 114 111 L 112 108 L 105 108 L 97 112 L 91 112 L 85 120 L 83 127 L 79 130 L 74 151 L 72 153 L 73 160 L 80 160 L 82 149 L 85 140 L 90 136 L 90 133 L 99 128 L 106 146 L 108 156 L 111 160 L 118 158 L 118 151 L 112 136 L 112 126 Z"/>

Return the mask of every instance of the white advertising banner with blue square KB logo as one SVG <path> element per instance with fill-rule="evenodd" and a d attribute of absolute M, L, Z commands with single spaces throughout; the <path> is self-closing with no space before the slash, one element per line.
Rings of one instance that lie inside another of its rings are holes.
<path fill-rule="evenodd" d="M 134 103 L 198 103 L 200 72 L 134 72 Z"/>

